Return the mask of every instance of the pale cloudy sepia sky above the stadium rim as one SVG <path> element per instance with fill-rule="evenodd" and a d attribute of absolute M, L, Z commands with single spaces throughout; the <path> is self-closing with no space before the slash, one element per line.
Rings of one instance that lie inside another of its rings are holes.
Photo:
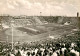
<path fill-rule="evenodd" d="M 77 12 L 80 0 L 0 0 L 1 15 L 76 16 Z"/>

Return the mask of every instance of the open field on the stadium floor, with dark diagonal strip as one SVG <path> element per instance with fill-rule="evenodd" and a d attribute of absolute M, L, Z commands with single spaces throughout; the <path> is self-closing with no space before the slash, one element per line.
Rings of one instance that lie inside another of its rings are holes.
<path fill-rule="evenodd" d="M 69 34 L 74 26 L 60 26 L 60 25 L 43 25 L 44 27 L 17 27 L 13 28 L 13 38 L 14 42 L 31 42 L 31 41 L 39 41 L 44 39 L 51 39 L 49 35 L 53 36 L 54 39 L 60 38 L 64 34 Z M 35 30 L 34 30 L 35 29 Z M 45 30 L 44 30 L 45 29 Z M 44 31 L 43 31 L 44 30 Z M 12 31 L 11 28 L 4 29 L 1 33 L 3 33 L 2 37 L 0 37 L 1 41 L 11 42 Z M 52 38 L 53 39 L 53 38 Z"/>

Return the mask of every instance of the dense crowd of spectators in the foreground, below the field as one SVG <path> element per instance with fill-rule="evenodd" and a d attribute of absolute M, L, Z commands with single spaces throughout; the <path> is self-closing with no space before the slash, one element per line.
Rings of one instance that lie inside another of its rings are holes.
<path fill-rule="evenodd" d="M 80 39 L 79 36 L 65 36 L 60 40 L 45 40 L 44 43 L 38 41 L 20 44 L 18 42 L 14 44 L 13 49 L 11 43 L 0 42 L 0 56 L 80 56 L 80 40 L 78 39 Z"/>

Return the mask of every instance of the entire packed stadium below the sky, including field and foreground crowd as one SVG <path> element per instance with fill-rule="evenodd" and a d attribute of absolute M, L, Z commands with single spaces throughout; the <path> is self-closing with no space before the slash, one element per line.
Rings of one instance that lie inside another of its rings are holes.
<path fill-rule="evenodd" d="M 78 16 L 2 16 L 0 56 L 79 56 L 79 21 Z"/>

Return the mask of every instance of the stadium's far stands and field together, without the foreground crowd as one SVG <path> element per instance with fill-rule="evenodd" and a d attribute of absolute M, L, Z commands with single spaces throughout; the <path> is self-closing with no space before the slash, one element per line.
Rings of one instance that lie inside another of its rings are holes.
<path fill-rule="evenodd" d="M 3 16 L 1 21 L 3 33 L 0 40 L 11 42 L 12 34 L 14 42 L 58 39 L 65 34 L 69 34 L 72 29 L 76 29 L 76 26 L 74 26 L 76 24 L 76 17 Z"/>

